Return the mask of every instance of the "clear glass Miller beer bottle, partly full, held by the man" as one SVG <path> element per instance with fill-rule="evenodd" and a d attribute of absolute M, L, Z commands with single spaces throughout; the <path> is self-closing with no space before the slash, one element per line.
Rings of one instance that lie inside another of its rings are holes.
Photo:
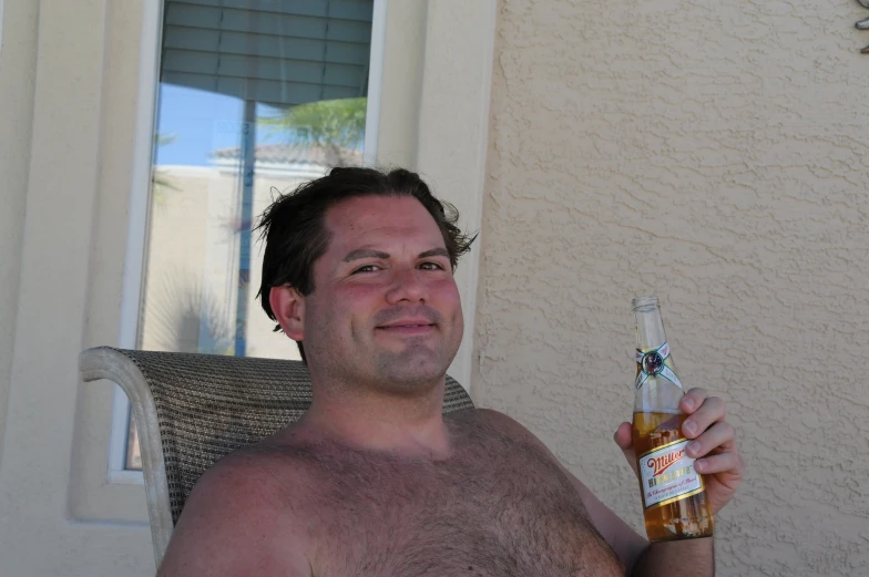
<path fill-rule="evenodd" d="M 636 381 L 633 442 L 648 540 L 708 537 L 713 516 L 703 477 L 685 454 L 685 391 L 676 375 L 657 297 L 634 299 Z"/>

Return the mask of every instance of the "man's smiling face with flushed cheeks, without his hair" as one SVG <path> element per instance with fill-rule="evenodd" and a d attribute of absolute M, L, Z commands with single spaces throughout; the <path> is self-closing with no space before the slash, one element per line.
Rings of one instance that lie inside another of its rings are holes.
<path fill-rule="evenodd" d="M 367 196 L 325 220 L 331 238 L 304 306 L 311 372 L 397 393 L 437 383 L 463 320 L 434 219 L 416 198 Z"/>

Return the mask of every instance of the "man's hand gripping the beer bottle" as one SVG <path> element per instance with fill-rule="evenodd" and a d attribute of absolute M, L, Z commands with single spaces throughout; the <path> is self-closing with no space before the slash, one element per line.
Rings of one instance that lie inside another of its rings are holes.
<path fill-rule="evenodd" d="M 709 396 L 705 389 L 685 393 L 679 409 L 689 415 L 682 424 L 682 434 L 694 440 L 686 452 L 697 460 L 694 467 L 705 476 L 712 513 L 717 514 L 733 498 L 745 473 L 745 463 L 736 450 L 736 431 L 725 420 L 724 401 Z M 638 475 L 631 423 L 620 424 L 613 439 Z"/>

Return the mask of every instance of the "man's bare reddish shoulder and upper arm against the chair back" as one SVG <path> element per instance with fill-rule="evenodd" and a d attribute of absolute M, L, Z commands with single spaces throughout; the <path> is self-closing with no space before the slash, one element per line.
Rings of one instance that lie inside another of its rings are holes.
<path fill-rule="evenodd" d="M 311 576 L 287 505 L 270 475 L 252 461 L 231 455 L 203 475 L 157 577 Z"/>

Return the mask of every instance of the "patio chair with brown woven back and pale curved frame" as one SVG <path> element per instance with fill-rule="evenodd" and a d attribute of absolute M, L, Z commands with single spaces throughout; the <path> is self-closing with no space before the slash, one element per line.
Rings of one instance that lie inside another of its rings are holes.
<path fill-rule="evenodd" d="M 231 451 L 296 421 L 311 401 L 299 361 L 98 347 L 79 357 L 82 381 L 108 379 L 136 419 L 157 566 L 200 476 Z M 443 412 L 473 408 L 447 378 Z"/>

